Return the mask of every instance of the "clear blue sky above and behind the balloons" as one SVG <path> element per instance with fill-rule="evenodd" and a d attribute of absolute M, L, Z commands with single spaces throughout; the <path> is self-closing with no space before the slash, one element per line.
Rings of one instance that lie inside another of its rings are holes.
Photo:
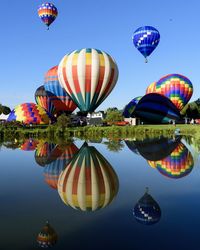
<path fill-rule="evenodd" d="M 0 22 L 0 103 L 11 109 L 35 102 L 44 74 L 64 55 L 81 48 L 110 54 L 119 68 L 117 84 L 97 108 L 119 109 L 166 74 L 178 73 L 193 83 L 190 101 L 200 97 L 199 0 L 54 0 L 58 16 L 50 30 L 37 14 L 43 1 L 2 0 Z M 148 63 L 134 47 L 132 35 L 150 25 L 160 43 Z"/>

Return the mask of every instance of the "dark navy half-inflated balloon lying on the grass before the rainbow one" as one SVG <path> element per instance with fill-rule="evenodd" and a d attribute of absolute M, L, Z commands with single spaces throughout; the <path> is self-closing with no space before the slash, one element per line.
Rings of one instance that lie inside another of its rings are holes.
<path fill-rule="evenodd" d="M 170 123 L 180 119 L 179 110 L 165 96 L 152 93 L 142 97 L 133 114 L 148 123 Z"/>

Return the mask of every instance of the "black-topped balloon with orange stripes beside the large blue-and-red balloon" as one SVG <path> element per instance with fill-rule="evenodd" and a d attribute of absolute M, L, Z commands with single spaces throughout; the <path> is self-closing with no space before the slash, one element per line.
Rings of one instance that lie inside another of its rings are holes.
<path fill-rule="evenodd" d="M 44 108 L 50 114 L 53 115 L 55 113 L 55 107 L 50 99 L 50 93 L 48 93 L 44 89 L 44 86 L 40 86 L 35 91 L 35 102 L 37 103 L 37 105 L 40 105 L 40 107 Z"/>

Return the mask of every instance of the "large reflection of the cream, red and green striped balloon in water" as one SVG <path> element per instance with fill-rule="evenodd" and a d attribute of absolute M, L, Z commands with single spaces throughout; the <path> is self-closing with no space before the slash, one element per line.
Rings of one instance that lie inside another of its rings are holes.
<path fill-rule="evenodd" d="M 87 143 L 61 172 L 58 180 L 62 201 L 82 211 L 106 207 L 116 196 L 118 188 L 118 177 L 112 166 Z"/>

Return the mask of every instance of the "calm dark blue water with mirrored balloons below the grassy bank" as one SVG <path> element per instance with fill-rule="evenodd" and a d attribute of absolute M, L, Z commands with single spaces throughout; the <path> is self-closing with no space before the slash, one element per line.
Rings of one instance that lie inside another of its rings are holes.
<path fill-rule="evenodd" d="M 185 139 L 9 147 L 0 150 L 1 250 L 41 249 L 48 233 L 59 250 L 200 249 L 198 150 Z"/>

